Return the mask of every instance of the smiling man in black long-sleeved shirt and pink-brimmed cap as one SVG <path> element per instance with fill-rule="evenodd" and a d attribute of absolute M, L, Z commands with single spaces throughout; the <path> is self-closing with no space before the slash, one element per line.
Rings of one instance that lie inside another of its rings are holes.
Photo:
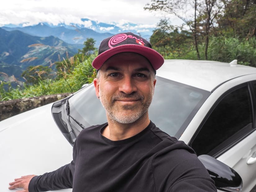
<path fill-rule="evenodd" d="M 104 39 L 92 66 L 97 69 L 94 86 L 107 123 L 80 132 L 70 164 L 16 179 L 9 189 L 216 191 L 194 151 L 149 119 L 155 72 L 163 63 L 150 43 L 133 33 Z"/>

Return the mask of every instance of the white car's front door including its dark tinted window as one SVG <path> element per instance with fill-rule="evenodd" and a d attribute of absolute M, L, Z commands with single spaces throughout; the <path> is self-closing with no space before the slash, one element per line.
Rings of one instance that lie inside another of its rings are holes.
<path fill-rule="evenodd" d="M 223 93 L 189 142 L 234 168 L 248 192 L 256 184 L 255 92 L 256 82 L 247 82 Z"/>

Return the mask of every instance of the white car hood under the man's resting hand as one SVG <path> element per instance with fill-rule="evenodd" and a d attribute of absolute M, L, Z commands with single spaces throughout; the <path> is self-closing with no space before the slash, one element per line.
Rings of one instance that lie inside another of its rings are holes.
<path fill-rule="evenodd" d="M 72 160 L 72 146 L 51 108 L 44 105 L 0 122 L 0 191 L 13 191 L 8 186 L 15 178 L 51 172 Z"/>

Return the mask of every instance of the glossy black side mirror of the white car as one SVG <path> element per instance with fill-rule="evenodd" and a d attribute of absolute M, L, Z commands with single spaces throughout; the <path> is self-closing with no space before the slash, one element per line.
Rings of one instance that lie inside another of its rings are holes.
<path fill-rule="evenodd" d="M 234 169 L 209 155 L 200 155 L 198 159 L 204 164 L 218 190 L 242 191 L 242 178 Z"/>

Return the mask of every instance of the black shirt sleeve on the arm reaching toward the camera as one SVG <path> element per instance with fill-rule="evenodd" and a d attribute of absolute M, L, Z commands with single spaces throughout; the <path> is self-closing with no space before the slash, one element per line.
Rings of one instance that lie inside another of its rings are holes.
<path fill-rule="evenodd" d="M 161 151 L 152 162 L 152 171 L 156 191 L 217 191 L 204 165 L 186 148 Z"/>

